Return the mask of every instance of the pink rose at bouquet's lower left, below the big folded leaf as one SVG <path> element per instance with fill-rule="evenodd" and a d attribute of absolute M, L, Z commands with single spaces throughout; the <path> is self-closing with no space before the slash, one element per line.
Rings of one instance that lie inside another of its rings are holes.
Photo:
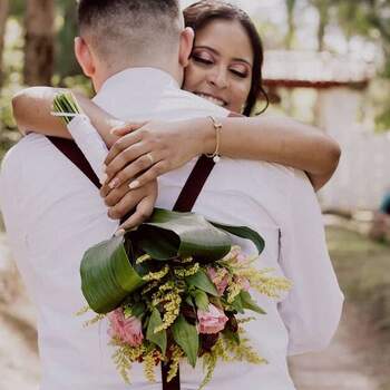
<path fill-rule="evenodd" d="M 110 322 L 109 335 L 111 338 L 116 337 L 130 347 L 138 347 L 143 343 L 143 325 L 139 319 L 136 316 L 126 319 L 121 308 L 110 312 L 108 319 Z"/>

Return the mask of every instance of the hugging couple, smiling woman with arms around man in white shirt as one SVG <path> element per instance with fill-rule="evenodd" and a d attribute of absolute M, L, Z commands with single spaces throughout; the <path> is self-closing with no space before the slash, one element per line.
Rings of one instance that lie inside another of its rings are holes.
<path fill-rule="evenodd" d="M 140 364 L 131 384 L 123 383 L 107 323 L 86 329 L 75 316 L 85 305 L 79 265 L 88 247 L 134 228 L 155 205 L 172 209 L 201 155 L 222 157 L 194 212 L 259 232 L 266 243 L 259 267 L 293 283 L 283 299 L 256 296 L 267 314 L 246 328 L 267 364 L 220 364 L 207 389 L 294 389 L 287 355 L 325 348 L 341 315 L 314 193 L 337 167 L 338 145 L 289 118 L 250 118 L 265 95 L 263 49 L 236 7 L 201 1 L 183 19 L 176 0 L 80 0 L 78 13 L 75 51 L 97 95 L 76 96 L 109 148 L 100 193 L 47 137 L 70 138 L 50 115 L 51 88 L 14 97 L 27 135 L 0 176 L 9 243 L 38 310 L 40 389 L 162 389 Z M 95 153 L 79 147 L 87 159 Z M 182 389 L 197 389 L 202 378 L 199 364 L 181 363 Z"/>

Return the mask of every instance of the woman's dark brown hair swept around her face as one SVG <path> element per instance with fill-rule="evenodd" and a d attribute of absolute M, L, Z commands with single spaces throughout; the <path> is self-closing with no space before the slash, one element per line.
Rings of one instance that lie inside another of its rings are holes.
<path fill-rule="evenodd" d="M 264 113 L 269 107 L 269 97 L 262 86 L 262 67 L 264 61 L 263 43 L 253 21 L 246 12 L 236 6 L 217 0 L 202 0 L 184 10 L 184 20 L 186 27 L 191 27 L 195 31 L 201 30 L 215 19 L 237 20 L 245 29 L 253 49 L 253 72 L 251 90 L 247 96 L 243 114 L 251 116 L 253 108 L 260 95 L 263 95 L 266 101 Z M 260 113 L 260 114 L 261 114 Z"/>

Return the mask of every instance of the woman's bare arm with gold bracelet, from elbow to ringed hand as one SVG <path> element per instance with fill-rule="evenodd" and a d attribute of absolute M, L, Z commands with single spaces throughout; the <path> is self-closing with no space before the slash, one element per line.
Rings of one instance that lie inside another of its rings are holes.
<path fill-rule="evenodd" d="M 305 170 L 314 189 L 321 188 L 338 166 L 339 145 L 314 127 L 290 118 L 265 116 L 220 120 L 223 156 L 266 160 Z M 108 186 L 104 194 L 138 176 L 131 184 L 136 188 L 197 155 L 215 150 L 211 118 L 149 123 L 137 131 L 125 126 L 116 134 L 121 138 L 105 162 Z"/>

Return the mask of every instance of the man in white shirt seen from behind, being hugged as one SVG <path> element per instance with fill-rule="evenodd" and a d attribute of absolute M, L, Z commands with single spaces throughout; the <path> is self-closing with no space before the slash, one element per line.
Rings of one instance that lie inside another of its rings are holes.
<path fill-rule="evenodd" d="M 79 21 L 77 58 L 97 90 L 95 101 L 110 114 L 123 120 L 228 115 L 179 89 L 193 33 L 183 27 L 178 1 L 81 0 Z M 193 166 L 159 179 L 157 206 L 173 207 Z M 94 184 L 46 137 L 30 134 L 3 160 L 0 201 L 10 245 L 38 309 L 40 390 L 160 389 L 146 382 L 140 364 L 133 367 L 131 386 L 125 386 L 110 359 L 107 323 L 84 329 L 85 319 L 75 316 L 85 305 L 80 259 L 118 226 Z M 223 363 L 207 389 L 294 389 L 286 355 L 324 348 L 342 308 L 309 181 L 277 165 L 222 158 L 194 211 L 256 230 L 266 242 L 257 266 L 273 267 L 294 283 L 281 302 L 255 296 L 267 314 L 247 331 L 269 364 Z M 182 389 L 197 388 L 202 370 L 185 363 L 181 370 Z"/>

